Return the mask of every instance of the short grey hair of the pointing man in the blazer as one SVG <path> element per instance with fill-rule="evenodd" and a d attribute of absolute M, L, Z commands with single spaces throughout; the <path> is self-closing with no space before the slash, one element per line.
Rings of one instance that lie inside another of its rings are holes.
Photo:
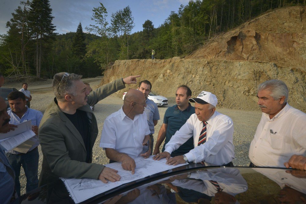
<path fill-rule="evenodd" d="M 69 74 L 69 76 L 64 76 L 64 73 L 65 72 L 60 72 L 55 74 L 52 81 L 54 95 L 56 99 L 61 102 L 65 102 L 65 95 L 67 94 L 76 95 L 76 89 L 74 88 L 73 82 L 82 78 L 82 75 Z M 59 84 L 60 86 L 58 86 Z"/>

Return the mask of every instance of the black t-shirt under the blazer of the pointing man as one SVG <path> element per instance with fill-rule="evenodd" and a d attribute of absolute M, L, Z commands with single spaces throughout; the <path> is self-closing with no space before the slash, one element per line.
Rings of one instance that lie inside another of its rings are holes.
<path fill-rule="evenodd" d="M 83 138 L 87 156 L 86 156 L 86 162 L 90 160 L 90 133 L 89 133 L 89 119 L 87 117 L 87 114 L 85 111 L 76 109 L 76 113 L 74 114 L 68 114 L 64 113 L 68 119 L 72 122 L 72 124 L 76 127 L 76 129 L 79 131 L 80 135 Z"/>

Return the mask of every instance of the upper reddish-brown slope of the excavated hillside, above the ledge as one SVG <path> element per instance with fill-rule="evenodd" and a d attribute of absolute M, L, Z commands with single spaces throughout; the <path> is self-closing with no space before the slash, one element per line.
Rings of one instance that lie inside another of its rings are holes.
<path fill-rule="evenodd" d="M 265 61 L 305 68 L 306 6 L 264 14 L 212 39 L 186 57 L 192 58 Z"/>

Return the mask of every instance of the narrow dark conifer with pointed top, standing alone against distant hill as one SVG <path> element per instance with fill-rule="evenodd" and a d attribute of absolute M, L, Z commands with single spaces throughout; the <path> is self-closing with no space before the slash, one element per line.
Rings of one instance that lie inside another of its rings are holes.
<path fill-rule="evenodd" d="M 76 29 L 76 35 L 73 37 L 71 44 L 71 51 L 74 56 L 81 58 L 86 53 L 86 45 L 84 43 L 85 36 L 82 29 L 81 22 Z"/>

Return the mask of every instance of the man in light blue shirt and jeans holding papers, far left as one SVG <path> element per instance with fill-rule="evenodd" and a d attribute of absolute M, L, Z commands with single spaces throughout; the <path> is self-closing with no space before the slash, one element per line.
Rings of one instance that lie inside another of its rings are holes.
<path fill-rule="evenodd" d="M 24 121 L 31 121 L 32 130 L 36 134 L 33 138 L 27 142 L 30 144 L 30 148 L 23 152 L 15 151 L 14 149 L 6 154 L 10 165 L 13 167 L 15 172 L 15 188 L 17 194 L 20 196 L 20 168 L 24 169 L 25 176 L 27 177 L 27 192 L 32 191 L 38 187 L 38 126 L 43 117 L 43 113 L 38 110 L 28 108 L 26 106 L 27 101 L 25 100 L 24 93 L 21 91 L 13 91 L 8 96 L 10 110 L 7 111 L 11 117 L 11 124 L 19 124 Z M 32 147 L 31 147 L 32 145 Z"/>

